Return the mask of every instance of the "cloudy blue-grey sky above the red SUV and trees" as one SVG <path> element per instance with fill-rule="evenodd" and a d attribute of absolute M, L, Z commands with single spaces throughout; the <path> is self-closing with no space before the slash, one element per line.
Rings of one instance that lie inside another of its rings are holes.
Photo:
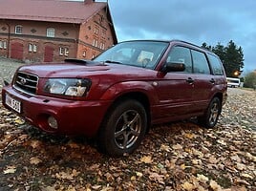
<path fill-rule="evenodd" d="M 100 0 L 97 0 L 100 1 Z M 106 1 L 105 1 L 106 2 Z M 181 39 L 201 46 L 233 40 L 256 70 L 255 0 L 108 0 L 118 41 Z"/>

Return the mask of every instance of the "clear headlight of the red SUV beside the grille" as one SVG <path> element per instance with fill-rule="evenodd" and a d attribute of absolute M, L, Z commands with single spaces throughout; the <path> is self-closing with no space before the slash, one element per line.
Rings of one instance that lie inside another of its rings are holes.
<path fill-rule="evenodd" d="M 52 78 L 45 84 L 44 92 L 63 96 L 84 96 L 91 87 L 90 79 Z"/>

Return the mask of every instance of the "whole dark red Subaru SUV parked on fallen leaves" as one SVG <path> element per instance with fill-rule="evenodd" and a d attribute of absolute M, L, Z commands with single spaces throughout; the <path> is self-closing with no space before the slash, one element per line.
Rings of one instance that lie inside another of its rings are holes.
<path fill-rule="evenodd" d="M 214 127 L 226 99 L 222 62 L 183 41 L 118 43 L 94 60 L 20 67 L 6 108 L 54 134 L 84 135 L 101 152 L 132 153 L 152 124 L 198 117 Z"/>

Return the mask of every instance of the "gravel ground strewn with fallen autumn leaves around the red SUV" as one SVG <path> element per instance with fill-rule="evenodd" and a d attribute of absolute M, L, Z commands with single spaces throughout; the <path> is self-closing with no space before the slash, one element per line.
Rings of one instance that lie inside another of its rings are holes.
<path fill-rule="evenodd" d="M 0 58 L 0 77 L 11 80 L 22 64 Z M 40 132 L 0 104 L 0 190 L 256 191 L 255 100 L 256 91 L 228 89 L 215 129 L 156 126 L 120 159 L 84 138 Z"/>

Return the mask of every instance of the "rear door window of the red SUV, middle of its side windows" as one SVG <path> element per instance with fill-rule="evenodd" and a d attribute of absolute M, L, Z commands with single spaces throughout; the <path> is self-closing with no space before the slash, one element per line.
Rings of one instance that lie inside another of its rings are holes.
<path fill-rule="evenodd" d="M 192 50 L 194 73 L 210 74 L 209 65 L 204 53 Z"/>

